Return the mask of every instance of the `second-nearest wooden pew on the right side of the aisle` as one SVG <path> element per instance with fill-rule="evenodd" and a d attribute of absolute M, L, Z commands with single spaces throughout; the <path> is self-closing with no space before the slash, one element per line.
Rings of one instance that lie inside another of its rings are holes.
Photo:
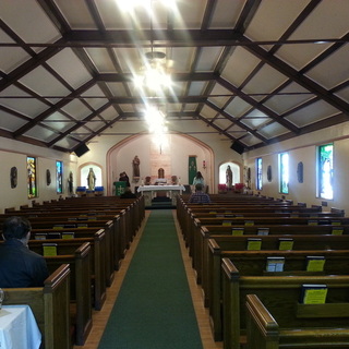
<path fill-rule="evenodd" d="M 342 252 L 340 252 L 342 253 Z M 337 260 L 339 263 L 339 260 Z M 255 264 L 256 261 L 253 262 Z M 348 261 L 347 261 L 348 267 Z M 222 260 L 222 328 L 224 348 L 239 348 L 245 335 L 245 297 L 256 294 L 263 303 L 278 314 L 293 312 L 304 284 L 322 284 L 329 288 L 327 301 L 349 301 L 348 275 L 292 275 L 269 273 L 269 276 L 244 276 L 229 258 Z M 290 277 L 292 275 L 292 277 Z M 308 318 L 304 320 L 304 323 Z M 325 324 L 328 325 L 327 322 Z M 335 324 L 335 323 L 334 323 Z M 292 326 L 292 323 L 289 323 Z"/>

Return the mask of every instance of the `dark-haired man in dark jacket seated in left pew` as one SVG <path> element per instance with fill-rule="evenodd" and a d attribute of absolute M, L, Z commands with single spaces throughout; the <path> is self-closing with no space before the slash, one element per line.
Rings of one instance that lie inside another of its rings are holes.
<path fill-rule="evenodd" d="M 12 216 L 3 221 L 0 244 L 0 287 L 43 287 L 49 276 L 44 256 L 28 249 L 31 222 Z"/>

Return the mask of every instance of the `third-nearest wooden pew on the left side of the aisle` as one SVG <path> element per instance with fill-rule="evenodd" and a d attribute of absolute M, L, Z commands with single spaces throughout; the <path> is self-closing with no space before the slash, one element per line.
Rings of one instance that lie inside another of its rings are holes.
<path fill-rule="evenodd" d="M 47 231 L 46 231 L 47 232 Z M 61 230 L 52 230 L 51 233 L 62 233 Z M 106 279 L 106 234 L 104 229 L 97 231 L 85 230 L 80 231 L 69 230 L 69 232 L 74 232 L 75 238 L 73 239 L 46 239 L 46 240 L 35 240 L 35 234 L 37 231 L 32 230 L 32 238 L 28 242 L 29 249 L 43 254 L 43 243 L 55 243 L 58 245 L 60 253 L 71 254 L 83 243 L 88 242 L 91 245 L 91 269 L 92 269 L 92 285 L 94 293 L 94 308 L 95 310 L 100 310 L 106 301 L 107 297 L 107 279 Z M 40 232 L 41 233 L 41 232 Z"/>

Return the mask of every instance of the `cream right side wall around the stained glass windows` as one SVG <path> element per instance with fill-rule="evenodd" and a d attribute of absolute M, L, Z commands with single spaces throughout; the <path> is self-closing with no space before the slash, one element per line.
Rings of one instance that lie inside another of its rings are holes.
<path fill-rule="evenodd" d="M 312 204 L 322 205 L 327 203 L 327 207 L 342 208 L 349 214 L 349 137 L 348 123 L 338 127 L 332 127 L 323 131 L 317 131 L 300 137 L 274 144 L 268 147 L 255 149 L 244 155 L 245 166 L 251 168 L 252 188 L 255 190 L 255 159 L 263 159 L 263 190 L 262 195 L 281 197 L 285 194 L 279 193 L 278 182 L 278 154 L 289 153 L 290 160 L 290 180 L 289 194 L 287 200 L 293 200 L 296 203 L 305 202 L 309 206 Z M 323 200 L 316 195 L 316 147 L 321 144 L 334 143 L 334 200 Z M 297 166 L 303 163 L 303 183 L 298 182 Z M 266 178 L 267 166 L 273 168 L 273 180 L 269 183 Z"/>

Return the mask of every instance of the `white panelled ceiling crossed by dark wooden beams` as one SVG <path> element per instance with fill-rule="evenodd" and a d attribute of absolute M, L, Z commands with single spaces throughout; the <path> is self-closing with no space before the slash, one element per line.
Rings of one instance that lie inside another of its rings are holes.
<path fill-rule="evenodd" d="M 152 103 L 170 133 L 248 152 L 349 117 L 348 0 L 121 2 L 0 0 L 0 134 L 72 153 L 147 132 Z M 135 86 L 149 52 L 170 88 Z"/>

